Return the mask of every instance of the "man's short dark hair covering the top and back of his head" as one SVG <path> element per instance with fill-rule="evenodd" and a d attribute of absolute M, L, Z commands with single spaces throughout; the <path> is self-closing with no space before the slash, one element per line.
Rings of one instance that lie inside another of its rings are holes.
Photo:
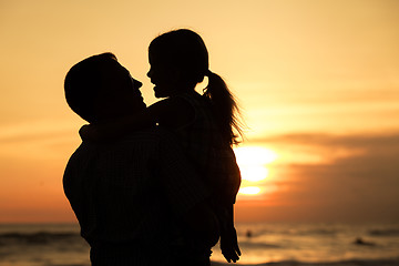
<path fill-rule="evenodd" d="M 114 63 L 116 57 L 113 53 L 101 53 L 76 63 L 66 73 L 64 91 L 68 105 L 90 123 L 96 120 L 93 104 L 106 78 L 106 66 Z"/>

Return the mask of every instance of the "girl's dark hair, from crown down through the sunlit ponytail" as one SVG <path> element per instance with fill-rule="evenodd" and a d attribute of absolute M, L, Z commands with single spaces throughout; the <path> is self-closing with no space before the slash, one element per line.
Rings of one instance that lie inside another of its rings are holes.
<path fill-rule="evenodd" d="M 204 96 L 212 102 L 223 139 L 229 144 L 237 144 L 238 135 L 234 131 L 242 135 L 237 117 L 239 110 L 224 80 L 209 71 L 208 52 L 203 39 L 187 29 L 170 31 L 150 43 L 149 53 L 177 69 L 182 73 L 182 81 L 188 88 L 195 88 L 204 76 L 208 78 Z"/>

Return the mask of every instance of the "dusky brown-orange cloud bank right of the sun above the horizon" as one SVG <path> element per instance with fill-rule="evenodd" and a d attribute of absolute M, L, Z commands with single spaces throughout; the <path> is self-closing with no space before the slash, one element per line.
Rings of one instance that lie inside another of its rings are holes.
<path fill-rule="evenodd" d="M 399 221 L 399 133 L 287 134 L 258 142 L 286 150 L 311 147 L 321 154 L 348 151 L 345 156 L 320 163 L 280 163 L 284 171 L 276 181 L 285 178 L 287 190 L 276 196 L 295 206 L 301 218 Z"/>

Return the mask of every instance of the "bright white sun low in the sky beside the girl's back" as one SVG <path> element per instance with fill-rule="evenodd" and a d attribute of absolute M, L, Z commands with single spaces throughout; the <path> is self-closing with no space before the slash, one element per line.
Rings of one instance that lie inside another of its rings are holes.
<path fill-rule="evenodd" d="M 260 188 L 263 181 L 269 175 L 267 165 L 277 158 L 277 154 L 259 146 L 243 146 L 234 150 L 242 172 L 242 195 L 258 195 L 267 190 Z"/>

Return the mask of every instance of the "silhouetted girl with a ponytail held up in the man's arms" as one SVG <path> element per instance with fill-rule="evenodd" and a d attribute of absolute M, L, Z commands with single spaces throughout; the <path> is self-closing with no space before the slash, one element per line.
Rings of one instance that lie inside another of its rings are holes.
<path fill-rule="evenodd" d="M 89 129 L 86 134 L 120 136 L 152 123 L 175 131 L 212 192 L 212 205 L 221 224 L 221 249 L 227 262 L 235 263 L 241 256 L 233 215 L 241 184 L 232 150 L 238 143 L 234 130 L 241 134 L 236 102 L 223 79 L 208 70 L 205 43 L 191 30 L 155 38 L 149 48 L 149 60 L 147 76 L 155 85 L 155 96 L 166 99 L 149 106 L 140 117 L 117 121 L 108 129 Z M 195 86 L 204 76 L 208 78 L 208 85 L 201 95 Z"/>

